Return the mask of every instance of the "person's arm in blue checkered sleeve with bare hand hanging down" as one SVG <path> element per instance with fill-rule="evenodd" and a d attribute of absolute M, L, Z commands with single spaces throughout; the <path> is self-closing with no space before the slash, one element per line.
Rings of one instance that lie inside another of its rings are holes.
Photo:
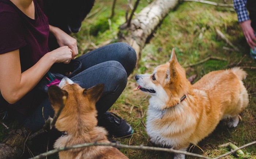
<path fill-rule="evenodd" d="M 234 9 L 236 10 L 238 22 L 242 28 L 242 32 L 245 36 L 246 42 L 253 49 L 256 47 L 256 37 L 254 35 L 253 28 L 251 27 L 251 20 L 249 19 L 246 9 L 246 0 L 233 0 Z"/>

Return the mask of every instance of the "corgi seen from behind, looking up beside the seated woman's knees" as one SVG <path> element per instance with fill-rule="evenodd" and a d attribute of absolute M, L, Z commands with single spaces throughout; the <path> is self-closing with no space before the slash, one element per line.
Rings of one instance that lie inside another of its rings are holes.
<path fill-rule="evenodd" d="M 48 95 L 54 113 L 57 113 L 63 104 L 63 96 L 67 97 L 55 124 L 56 129 L 67 132 L 67 135 L 59 137 L 54 143 L 54 148 L 95 141 L 110 143 L 106 137 L 106 130 L 97 126 L 95 103 L 101 97 L 103 89 L 104 84 L 84 89 L 67 77 L 61 80 L 59 87 L 56 85 L 49 87 Z M 117 148 L 110 146 L 90 146 L 61 151 L 59 157 L 60 159 L 128 159 Z"/>

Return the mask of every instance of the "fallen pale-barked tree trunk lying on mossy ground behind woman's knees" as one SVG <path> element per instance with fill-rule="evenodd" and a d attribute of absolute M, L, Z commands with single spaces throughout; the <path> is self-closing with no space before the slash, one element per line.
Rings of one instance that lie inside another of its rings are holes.
<path fill-rule="evenodd" d="M 135 49 L 137 59 L 143 49 L 148 36 L 152 34 L 162 19 L 176 5 L 178 0 L 155 0 L 143 8 L 132 20 L 128 27 L 127 23 L 120 26 L 118 41 L 128 43 Z"/>

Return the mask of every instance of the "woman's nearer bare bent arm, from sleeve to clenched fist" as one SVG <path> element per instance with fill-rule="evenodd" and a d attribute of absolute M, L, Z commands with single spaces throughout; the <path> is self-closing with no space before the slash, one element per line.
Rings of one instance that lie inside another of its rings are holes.
<path fill-rule="evenodd" d="M 34 66 L 21 73 L 19 50 L 0 54 L 0 90 L 5 100 L 11 104 L 25 96 L 55 62 L 70 62 L 71 49 L 60 47 L 45 54 Z"/>

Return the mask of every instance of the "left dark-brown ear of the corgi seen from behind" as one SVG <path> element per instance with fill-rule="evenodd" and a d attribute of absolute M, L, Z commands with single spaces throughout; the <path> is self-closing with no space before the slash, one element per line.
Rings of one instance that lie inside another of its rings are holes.
<path fill-rule="evenodd" d="M 67 97 L 68 92 L 58 86 L 52 85 L 48 88 L 48 97 L 54 109 L 58 109 L 63 104 L 64 96 Z"/>

